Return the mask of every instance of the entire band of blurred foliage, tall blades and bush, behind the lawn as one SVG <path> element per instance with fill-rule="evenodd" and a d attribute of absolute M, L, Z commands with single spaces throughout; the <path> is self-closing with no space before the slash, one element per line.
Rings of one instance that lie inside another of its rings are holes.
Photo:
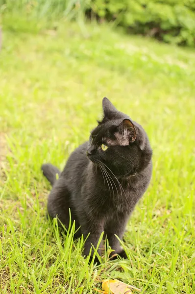
<path fill-rule="evenodd" d="M 114 21 L 133 34 L 144 34 L 166 43 L 195 47 L 195 0 L 0 0 L 9 27 L 23 27 L 21 14 L 27 20 L 41 22 L 76 19 L 82 26 L 85 13 L 101 20 Z M 10 19 L 10 13 L 17 20 Z M 19 24 L 18 24 L 19 22 Z M 39 30 L 40 25 L 33 25 Z"/>

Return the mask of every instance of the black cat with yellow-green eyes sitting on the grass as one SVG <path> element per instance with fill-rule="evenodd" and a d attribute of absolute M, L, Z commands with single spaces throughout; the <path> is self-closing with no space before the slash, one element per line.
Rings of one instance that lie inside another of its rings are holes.
<path fill-rule="evenodd" d="M 42 166 L 53 185 L 48 212 L 68 228 L 71 209 L 72 220 L 76 228 L 80 227 L 75 237 L 82 233 L 85 238 L 90 233 L 84 255 L 89 255 L 91 244 L 97 246 L 104 231 L 115 250 L 112 254 L 125 258 L 115 234 L 122 239 L 130 214 L 147 189 L 152 149 L 140 124 L 118 111 L 107 98 L 102 105 L 102 121 L 91 132 L 89 142 L 73 151 L 63 172 L 50 164 Z"/>

